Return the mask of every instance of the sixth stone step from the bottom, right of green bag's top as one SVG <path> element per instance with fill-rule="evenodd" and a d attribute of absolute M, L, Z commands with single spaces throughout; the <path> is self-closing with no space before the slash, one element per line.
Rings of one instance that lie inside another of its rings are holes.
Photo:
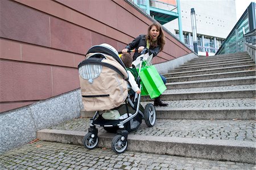
<path fill-rule="evenodd" d="M 255 71 L 255 64 L 254 65 L 239 65 L 235 67 L 225 67 L 225 68 L 213 68 L 213 69 L 202 69 L 196 71 L 183 71 L 183 72 L 170 72 L 166 74 L 162 74 L 164 77 L 177 77 L 177 76 L 188 76 L 188 75 L 195 75 L 195 74 L 210 74 L 210 73 L 224 73 L 224 72 L 236 72 L 236 71 Z"/>

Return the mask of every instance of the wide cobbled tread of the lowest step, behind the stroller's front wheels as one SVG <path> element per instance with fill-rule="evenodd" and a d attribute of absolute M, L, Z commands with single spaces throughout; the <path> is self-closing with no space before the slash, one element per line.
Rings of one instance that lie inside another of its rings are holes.
<path fill-rule="evenodd" d="M 89 119 L 80 118 L 57 126 L 55 130 L 87 131 Z M 105 132 L 102 127 L 99 131 Z M 256 141 L 254 120 L 186 120 L 186 119 L 157 119 L 153 127 L 142 123 L 134 135 L 169 136 L 180 138 L 223 139 Z"/>

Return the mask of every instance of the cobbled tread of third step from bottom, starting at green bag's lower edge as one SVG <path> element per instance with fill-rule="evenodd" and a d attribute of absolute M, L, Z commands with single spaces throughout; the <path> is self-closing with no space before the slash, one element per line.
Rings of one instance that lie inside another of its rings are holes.
<path fill-rule="evenodd" d="M 197 92 L 223 92 L 223 91 L 236 91 L 236 90 L 255 90 L 255 85 L 236 85 L 236 86 L 217 86 L 208 88 L 190 88 L 190 89 L 169 89 L 164 91 L 164 94 L 175 93 L 197 93 Z"/>

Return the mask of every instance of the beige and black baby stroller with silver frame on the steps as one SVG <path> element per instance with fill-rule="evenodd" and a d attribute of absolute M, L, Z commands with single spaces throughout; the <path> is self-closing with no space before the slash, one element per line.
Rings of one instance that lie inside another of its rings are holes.
<path fill-rule="evenodd" d="M 129 93 L 132 90 L 128 91 L 126 67 L 117 50 L 109 44 L 91 47 L 78 68 L 84 108 L 86 111 L 96 111 L 90 119 L 90 127 L 82 144 L 88 149 L 97 147 L 96 126 L 102 126 L 106 131 L 117 134 L 112 140 L 112 150 L 118 154 L 125 152 L 129 132 L 136 130 L 142 119 L 148 127 L 155 125 L 154 105 L 147 103 L 143 108 L 140 104 L 141 94 Z M 139 77 L 137 83 L 141 88 Z"/>

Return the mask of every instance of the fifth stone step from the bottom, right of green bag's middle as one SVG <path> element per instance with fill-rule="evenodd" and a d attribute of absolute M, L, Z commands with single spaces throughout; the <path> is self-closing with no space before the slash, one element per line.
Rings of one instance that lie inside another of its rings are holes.
<path fill-rule="evenodd" d="M 195 80 L 209 80 L 214 78 L 230 78 L 230 77 L 245 77 L 255 76 L 255 71 L 236 71 L 236 72 L 224 72 L 224 73 L 210 73 L 189 75 L 180 77 L 167 77 L 167 82 L 183 82 L 183 81 L 195 81 Z"/>

